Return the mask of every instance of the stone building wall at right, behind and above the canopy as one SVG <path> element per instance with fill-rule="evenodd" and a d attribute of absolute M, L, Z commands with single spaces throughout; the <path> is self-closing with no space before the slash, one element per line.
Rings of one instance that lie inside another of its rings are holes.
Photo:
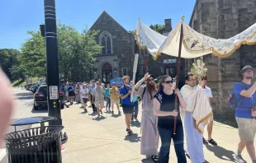
<path fill-rule="evenodd" d="M 190 26 L 201 34 L 216 39 L 227 39 L 239 34 L 256 22 L 255 0 L 197 0 Z M 240 70 L 245 65 L 256 67 L 256 46 L 243 45 L 228 58 L 205 56 L 208 68 L 208 86 L 211 87 L 211 105 L 216 116 L 234 119 L 234 110 L 228 109 L 227 97 L 236 81 L 241 80 Z M 186 70 L 193 59 L 186 59 Z"/>

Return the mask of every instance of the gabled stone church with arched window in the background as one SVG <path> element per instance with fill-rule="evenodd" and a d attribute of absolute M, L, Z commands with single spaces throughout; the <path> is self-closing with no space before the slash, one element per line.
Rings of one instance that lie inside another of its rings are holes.
<path fill-rule="evenodd" d="M 168 35 L 172 30 L 171 19 L 166 19 L 164 22 L 164 35 Z M 140 54 L 136 80 L 144 77 L 145 66 L 149 73 L 154 74 L 154 77 L 164 74 L 169 74 L 173 77 L 176 75 L 175 58 L 162 54 L 155 61 L 147 53 L 146 49 L 140 49 L 139 51 L 135 36 L 107 12 L 102 12 L 90 30 L 99 30 L 96 40 L 103 47 L 102 52 L 96 56 L 97 60 L 92 72 L 94 79 L 101 79 L 102 82 L 108 83 L 115 77 L 123 77 L 125 75 L 132 77 L 135 53 Z M 181 75 L 181 77 L 183 76 Z"/>

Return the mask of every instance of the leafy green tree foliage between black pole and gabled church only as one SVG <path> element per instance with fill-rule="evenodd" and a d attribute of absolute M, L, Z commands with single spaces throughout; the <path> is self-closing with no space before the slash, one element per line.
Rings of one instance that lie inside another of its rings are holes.
<path fill-rule="evenodd" d="M 97 31 L 87 29 L 79 33 L 72 26 L 59 23 L 59 70 L 64 73 L 64 81 L 68 80 L 70 72 L 78 73 L 78 77 L 74 79 L 76 81 L 88 79 L 95 62 L 95 54 L 99 54 L 102 49 L 95 40 L 97 34 Z"/>

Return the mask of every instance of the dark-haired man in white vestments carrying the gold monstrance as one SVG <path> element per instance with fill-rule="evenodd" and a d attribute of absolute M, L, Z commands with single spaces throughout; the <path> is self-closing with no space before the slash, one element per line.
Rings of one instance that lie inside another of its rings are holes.
<path fill-rule="evenodd" d="M 183 128 L 184 133 L 186 136 L 186 142 L 185 144 L 185 151 L 187 152 L 187 155 L 190 157 L 190 160 L 192 163 L 203 163 L 205 162 L 204 153 L 203 153 L 203 142 L 202 140 L 202 133 L 201 129 L 199 128 L 199 125 L 195 125 L 195 119 L 193 116 L 193 109 L 197 107 L 197 111 L 194 110 L 196 113 L 199 113 L 201 110 L 199 110 L 198 106 L 195 106 L 197 103 L 201 104 L 201 100 L 197 99 L 197 86 L 196 86 L 196 77 L 194 77 L 192 74 L 188 75 L 185 78 L 186 85 L 182 87 L 181 93 L 183 97 L 186 97 L 187 95 L 190 96 L 190 100 L 198 100 L 198 101 L 189 101 L 187 98 L 184 98 L 187 103 L 187 109 L 185 111 L 182 111 L 182 118 L 183 118 Z M 199 87 L 199 86 L 198 86 Z M 194 95 L 194 97 L 192 96 Z M 193 106 L 192 106 L 193 105 Z M 203 104 L 201 104 L 203 105 Z M 189 107 L 189 108 L 188 108 Z M 196 119 L 197 121 L 197 119 Z M 201 125 L 201 124 L 200 124 Z M 202 124 L 203 125 L 203 124 Z M 195 127 L 197 126 L 197 128 Z M 202 127 L 201 127 L 202 128 Z"/>

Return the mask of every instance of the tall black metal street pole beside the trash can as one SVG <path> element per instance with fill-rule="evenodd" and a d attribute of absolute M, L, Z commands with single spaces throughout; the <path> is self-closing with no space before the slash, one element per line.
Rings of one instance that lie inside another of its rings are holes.
<path fill-rule="evenodd" d="M 56 32 L 55 0 L 45 1 L 46 81 L 48 86 L 48 115 L 56 117 L 50 125 L 62 125 L 59 105 L 59 62 Z"/>

